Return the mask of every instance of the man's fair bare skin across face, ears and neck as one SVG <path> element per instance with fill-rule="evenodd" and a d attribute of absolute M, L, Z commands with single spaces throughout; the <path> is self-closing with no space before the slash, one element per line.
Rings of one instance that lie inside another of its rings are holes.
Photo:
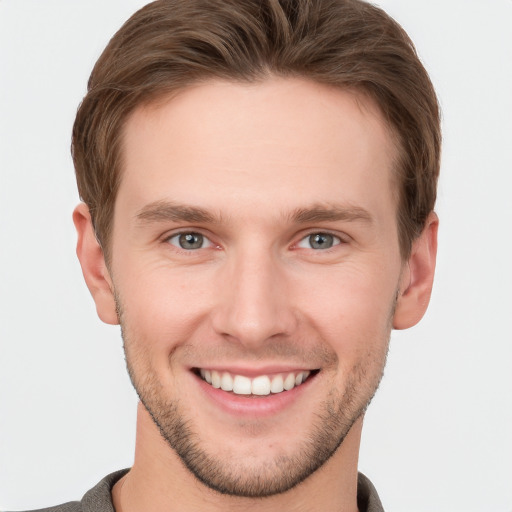
<path fill-rule="evenodd" d="M 438 225 L 432 213 L 402 261 L 397 148 L 378 109 L 306 80 L 212 81 L 139 108 L 124 138 L 108 266 L 87 207 L 74 212 L 86 282 L 122 325 L 144 404 L 116 510 L 357 510 L 364 410 L 391 329 L 427 308 Z M 183 232 L 204 245 L 181 248 Z M 332 247 L 313 248 L 318 233 Z M 196 368 L 315 372 L 269 411 L 269 397 L 217 400 Z"/>

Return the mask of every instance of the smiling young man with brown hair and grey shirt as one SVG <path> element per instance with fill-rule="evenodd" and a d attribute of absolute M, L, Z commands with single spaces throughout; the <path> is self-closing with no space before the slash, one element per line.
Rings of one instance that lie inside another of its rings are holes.
<path fill-rule="evenodd" d="M 58 511 L 378 511 L 357 472 L 436 257 L 437 100 L 355 0 L 159 0 L 73 129 L 77 253 L 122 328 L 135 461 Z"/>

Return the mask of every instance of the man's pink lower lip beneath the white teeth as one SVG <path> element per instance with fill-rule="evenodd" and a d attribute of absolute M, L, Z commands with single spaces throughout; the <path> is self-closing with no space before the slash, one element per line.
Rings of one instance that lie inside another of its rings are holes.
<path fill-rule="evenodd" d="M 254 416 L 261 418 L 275 415 L 290 407 L 311 386 L 316 375 L 310 376 L 306 382 L 289 391 L 264 396 L 237 395 L 230 391 L 214 388 L 195 374 L 194 377 L 201 390 L 206 393 L 208 398 L 216 405 L 220 406 L 225 412 L 238 416 Z"/>

